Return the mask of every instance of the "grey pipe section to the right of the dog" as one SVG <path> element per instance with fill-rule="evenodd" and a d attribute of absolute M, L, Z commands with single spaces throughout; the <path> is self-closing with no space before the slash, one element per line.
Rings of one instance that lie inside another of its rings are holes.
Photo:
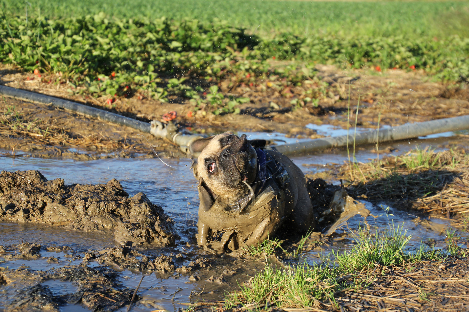
<path fill-rule="evenodd" d="M 425 121 L 421 123 L 406 123 L 387 129 L 364 131 L 356 134 L 355 144 L 371 144 L 377 142 L 397 141 L 408 138 L 423 137 L 430 134 L 469 129 L 469 115 Z M 354 144 L 353 130 L 348 135 L 349 145 Z M 379 138 L 378 138 L 379 136 Z M 378 140 L 379 139 L 379 140 Z M 274 148 L 286 155 L 305 154 L 325 150 L 331 147 L 347 146 L 347 135 L 277 145 Z"/>

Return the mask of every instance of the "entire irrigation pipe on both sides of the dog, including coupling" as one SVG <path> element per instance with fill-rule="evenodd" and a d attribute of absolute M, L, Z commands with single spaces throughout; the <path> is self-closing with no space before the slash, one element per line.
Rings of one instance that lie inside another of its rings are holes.
<path fill-rule="evenodd" d="M 0 94 L 19 100 L 24 100 L 27 102 L 49 104 L 53 107 L 72 111 L 79 115 L 91 118 L 98 118 L 110 123 L 116 123 L 122 126 L 128 126 L 140 130 L 142 132 L 151 133 L 155 137 L 168 138 L 175 144 L 181 146 L 181 150 L 186 153 L 190 152 L 189 146 L 192 142 L 199 138 L 203 138 L 203 136 L 200 135 L 183 135 L 177 133 L 177 129 L 174 127 L 174 125 L 165 125 L 159 123 L 158 121 L 153 121 L 151 124 L 145 123 L 143 121 L 139 121 L 126 116 L 121 116 L 119 114 L 111 113 L 106 110 L 97 109 L 91 106 L 22 89 L 0 85 Z M 370 130 L 361 132 L 359 134 L 357 133 L 355 144 L 361 145 L 377 142 L 397 141 L 408 138 L 423 137 L 435 133 L 458 131 L 465 129 L 469 129 L 469 115 L 425 121 L 422 123 L 406 123 L 401 126 L 380 129 L 379 131 Z M 352 137 L 351 134 L 352 131 L 350 131 L 348 137 L 349 145 L 354 144 L 354 140 L 350 139 Z M 332 138 L 317 138 L 302 143 L 277 145 L 273 148 L 286 155 L 291 155 L 316 152 L 327 148 L 340 146 L 347 146 L 346 135 Z"/>

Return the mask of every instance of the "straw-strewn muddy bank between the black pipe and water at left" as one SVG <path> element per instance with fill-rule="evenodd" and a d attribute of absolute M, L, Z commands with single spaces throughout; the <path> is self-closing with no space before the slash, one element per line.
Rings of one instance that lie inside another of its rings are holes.
<path fill-rule="evenodd" d="M 178 147 L 129 127 L 5 98 L 0 103 L 1 156 L 97 160 L 184 157 Z M 142 136 L 143 135 L 143 136 Z M 154 150 L 154 151 L 153 151 Z"/>

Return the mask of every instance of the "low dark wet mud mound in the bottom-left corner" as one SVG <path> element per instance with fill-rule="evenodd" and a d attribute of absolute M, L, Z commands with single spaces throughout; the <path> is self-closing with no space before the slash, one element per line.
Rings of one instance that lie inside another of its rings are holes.
<path fill-rule="evenodd" d="M 107 270 L 89 268 L 86 265 L 35 271 L 30 269 L 0 271 L 0 284 L 7 295 L 17 293 L 12 302 L 7 302 L 5 311 L 51 311 L 59 307 L 80 302 L 92 311 L 114 311 L 130 303 L 133 289 L 124 288 L 115 281 L 116 275 Z M 53 294 L 41 283 L 56 279 L 72 282 L 74 293 Z M 138 300 L 138 296 L 136 298 Z"/>

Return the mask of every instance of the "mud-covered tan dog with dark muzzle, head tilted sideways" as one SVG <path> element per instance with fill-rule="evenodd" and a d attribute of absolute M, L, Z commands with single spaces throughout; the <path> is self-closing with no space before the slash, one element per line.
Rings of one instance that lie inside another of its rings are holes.
<path fill-rule="evenodd" d="M 198 245 L 236 255 L 282 224 L 294 231 L 314 227 L 304 174 L 287 156 L 231 133 L 198 140 L 191 150 L 201 151 L 192 166 L 199 180 Z"/>

